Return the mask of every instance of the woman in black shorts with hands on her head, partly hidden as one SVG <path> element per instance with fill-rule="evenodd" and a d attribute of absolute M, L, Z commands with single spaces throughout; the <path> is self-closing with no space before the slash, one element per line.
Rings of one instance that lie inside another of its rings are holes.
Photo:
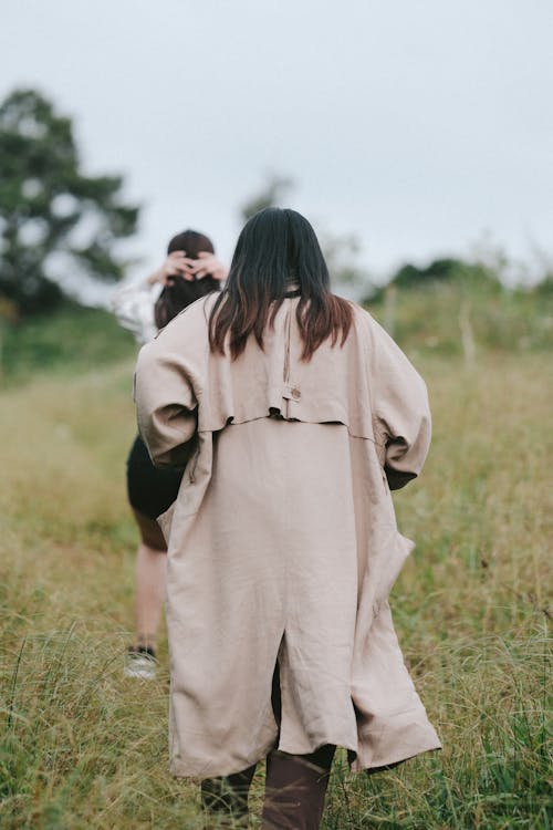
<path fill-rule="evenodd" d="M 147 343 L 191 302 L 218 291 L 227 271 L 211 240 L 186 230 L 173 237 L 164 262 L 145 280 L 117 291 L 115 313 L 140 344 Z M 156 519 L 177 498 L 181 478 L 180 469 L 156 469 L 142 438 L 135 438 L 127 459 L 127 492 L 140 543 L 136 553 L 136 635 L 125 660 L 129 677 L 155 677 L 167 552 Z"/>

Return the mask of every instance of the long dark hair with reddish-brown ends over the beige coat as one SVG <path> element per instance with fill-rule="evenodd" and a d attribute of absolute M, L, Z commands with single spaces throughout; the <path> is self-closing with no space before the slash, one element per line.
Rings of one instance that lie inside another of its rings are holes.
<path fill-rule="evenodd" d="M 233 360 L 251 334 L 263 349 L 263 332 L 273 325 L 281 303 L 294 288 L 300 297 L 301 359 L 309 361 L 328 339 L 333 346 L 338 339 L 343 345 L 352 325 L 352 305 L 331 293 L 315 231 L 295 210 L 260 210 L 238 238 L 227 284 L 211 311 L 211 351 L 225 354 L 227 334 Z"/>

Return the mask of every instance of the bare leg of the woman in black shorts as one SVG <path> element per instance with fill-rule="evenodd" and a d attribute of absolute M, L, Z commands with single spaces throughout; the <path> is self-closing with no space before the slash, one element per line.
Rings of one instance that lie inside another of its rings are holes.
<path fill-rule="evenodd" d="M 136 645 L 155 650 L 165 599 L 167 548 L 157 522 L 137 510 L 134 513 L 142 536 L 136 553 Z"/>

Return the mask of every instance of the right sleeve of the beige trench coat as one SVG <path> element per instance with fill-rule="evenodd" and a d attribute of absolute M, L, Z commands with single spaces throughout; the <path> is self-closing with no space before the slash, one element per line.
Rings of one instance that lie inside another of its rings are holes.
<path fill-rule="evenodd" d="M 431 417 L 424 380 L 378 323 L 369 318 L 375 437 L 390 490 L 416 478 L 428 454 Z"/>

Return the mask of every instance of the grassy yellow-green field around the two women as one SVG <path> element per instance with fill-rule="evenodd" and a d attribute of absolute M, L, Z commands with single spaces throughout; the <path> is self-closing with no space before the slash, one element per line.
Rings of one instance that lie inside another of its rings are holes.
<path fill-rule="evenodd" d="M 427 354 L 418 367 L 435 440 L 396 499 L 417 548 L 392 608 L 444 751 L 371 779 L 338 756 L 324 827 L 547 830 L 551 355 L 468 370 Z M 201 827 L 196 787 L 167 771 L 165 646 L 156 682 L 122 672 L 131 374 L 128 360 L 34 374 L 2 396 L 2 830 Z M 261 796 L 262 770 L 254 808 Z"/>

